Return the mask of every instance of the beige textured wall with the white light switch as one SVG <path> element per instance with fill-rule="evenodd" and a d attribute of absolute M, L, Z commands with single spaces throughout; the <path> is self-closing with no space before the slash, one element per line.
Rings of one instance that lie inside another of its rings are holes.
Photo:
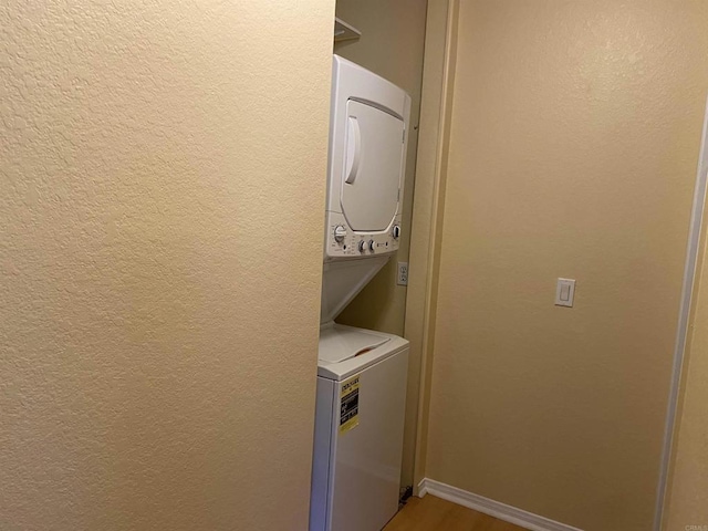
<path fill-rule="evenodd" d="M 697 0 L 460 2 L 427 477 L 650 529 L 707 24 Z"/>

